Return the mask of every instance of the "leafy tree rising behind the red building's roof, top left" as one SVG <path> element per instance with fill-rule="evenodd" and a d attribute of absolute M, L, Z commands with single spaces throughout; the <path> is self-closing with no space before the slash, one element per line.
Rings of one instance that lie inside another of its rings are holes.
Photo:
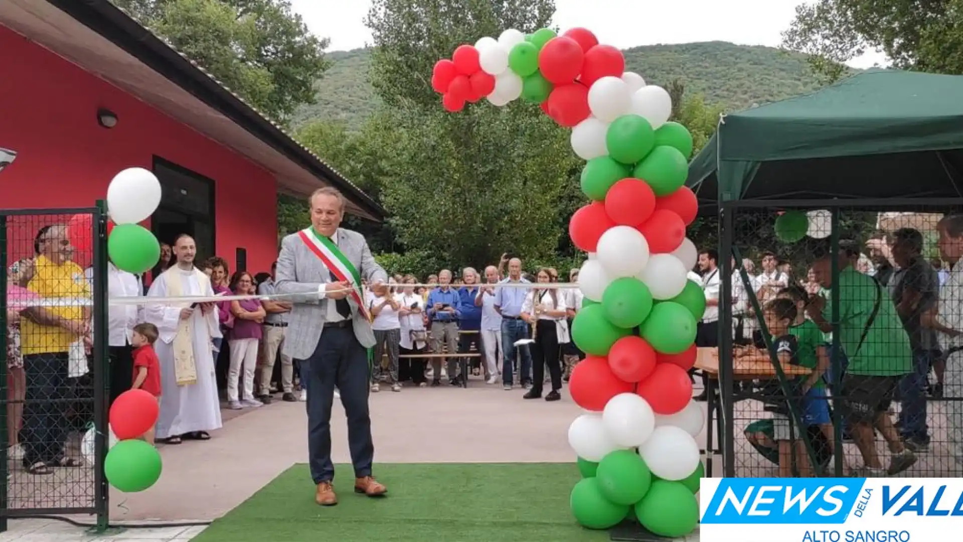
<path fill-rule="evenodd" d="M 326 39 L 287 0 L 114 0 L 276 122 L 314 103 Z"/>

